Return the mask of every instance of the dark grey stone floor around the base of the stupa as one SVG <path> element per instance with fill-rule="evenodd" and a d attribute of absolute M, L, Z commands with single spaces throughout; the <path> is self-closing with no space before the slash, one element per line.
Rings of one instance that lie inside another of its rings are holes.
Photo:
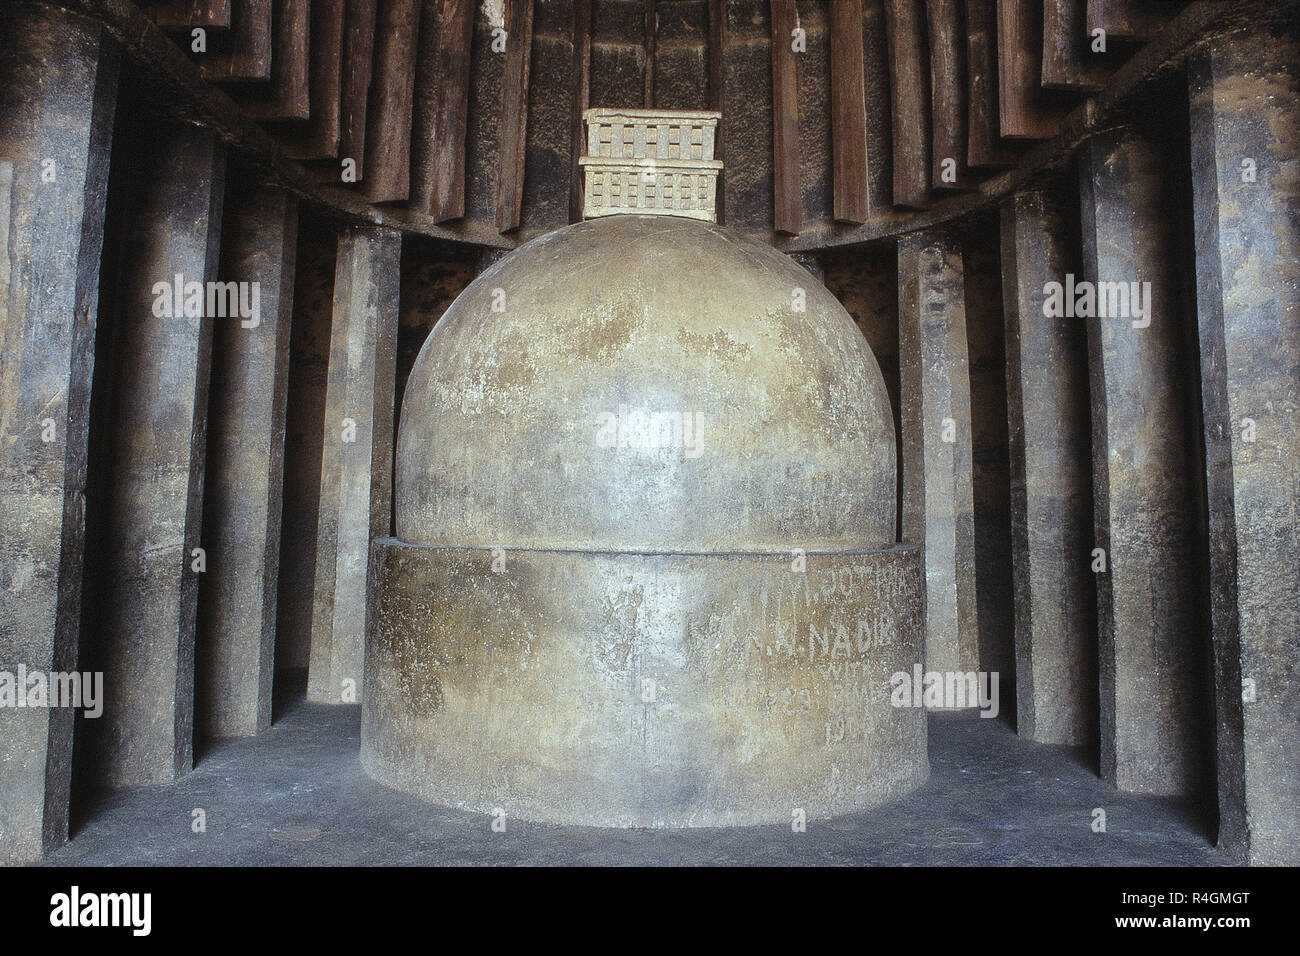
<path fill-rule="evenodd" d="M 46 865 L 883 864 L 1230 865 L 1188 808 L 1117 793 L 1082 750 L 974 711 L 932 714 L 930 783 L 889 806 L 789 826 L 597 830 L 428 806 L 370 780 L 360 708 L 295 702 L 177 783 L 108 795 Z M 1093 808 L 1106 832 L 1091 830 Z M 192 832 L 195 808 L 207 831 Z"/>

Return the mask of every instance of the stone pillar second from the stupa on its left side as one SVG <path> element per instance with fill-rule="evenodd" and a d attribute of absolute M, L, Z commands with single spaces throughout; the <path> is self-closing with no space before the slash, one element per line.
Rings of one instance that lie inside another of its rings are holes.
<path fill-rule="evenodd" d="M 257 308 L 213 330 L 195 692 L 207 736 L 270 726 L 298 200 L 247 191 L 224 220 L 221 281 Z"/>

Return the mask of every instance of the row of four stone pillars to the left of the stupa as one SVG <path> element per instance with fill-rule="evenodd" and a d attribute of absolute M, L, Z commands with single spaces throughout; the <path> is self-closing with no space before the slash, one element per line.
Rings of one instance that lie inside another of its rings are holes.
<path fill-rule="evenodd" d="M 196 726 L 270 723 L 298 207 L 234 182 L 211 131 L 155 116 L 135 121 L 144 146 L 114 170 L 112 206 L 113 135 L 131 121 L 116 46 L 44 4 L 5 4 L 0 36 L 0 670 L 103 672 L 96 718 L 0 709 L 0 862 L 22 862 L 68 836 L 74 728 L 78 778 L 121 787 L 187 773 Z M 378 228 L 339 238 L 315 700 L 360 695 L 400 250 Z M 212 282 L 235 285 L 213 299 Z M 248 313 L 212 317 L 216 302 Z"/>

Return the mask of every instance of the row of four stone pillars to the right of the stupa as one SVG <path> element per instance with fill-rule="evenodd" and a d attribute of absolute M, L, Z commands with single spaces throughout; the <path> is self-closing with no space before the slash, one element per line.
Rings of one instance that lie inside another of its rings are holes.
<path fill-rule="evenodd" d="M 1217 790 L 1225 849 L 1295 864 L 1296 38 L 1209 40 L 1188 83 L 1191 153 L 1156 124 L 1105 133 L 1076 203 L 1001 211 L 1017 723 L 1096 744 L 1119 790 Z M 898 243 L 902 529 L 935 671 L 980 663 L 962 269 L 950 237 Z M 1045 315 L 1053 282 L 1083 315 Z M 1070 294 L 1108 282 L 1136 297 L 1121 315 Z"/>

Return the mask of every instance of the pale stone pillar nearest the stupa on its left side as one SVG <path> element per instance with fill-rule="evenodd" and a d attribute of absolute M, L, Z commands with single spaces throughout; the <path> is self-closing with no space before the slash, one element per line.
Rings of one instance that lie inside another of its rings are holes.
<path fill-rule="evenodd" d="M 390 533 L 402 237 L 356 229 L 338 241 L 325 450 L 316 533 L 308 700 L 361 700 L 370 541 Z"/>

